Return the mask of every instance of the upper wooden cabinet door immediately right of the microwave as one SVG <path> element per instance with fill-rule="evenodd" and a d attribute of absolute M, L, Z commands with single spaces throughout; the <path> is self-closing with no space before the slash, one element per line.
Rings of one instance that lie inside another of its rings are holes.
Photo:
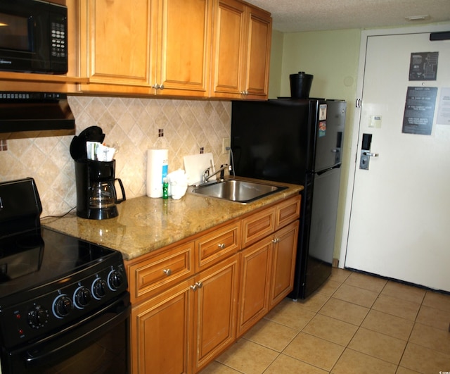
<path fill-rule="evenodd" d="M 80 66 L 90 83 L 148 87 L 152 3 L 80 1 Z"/>

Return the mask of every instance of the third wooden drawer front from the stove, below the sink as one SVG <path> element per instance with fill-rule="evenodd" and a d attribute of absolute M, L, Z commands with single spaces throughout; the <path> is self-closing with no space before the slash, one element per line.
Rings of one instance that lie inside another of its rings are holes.
<path fill-rule="evenodd" d="M 243 219 L 242 247 L 257 242 L 275 230 L 275 207 L 264 209 Z"/>

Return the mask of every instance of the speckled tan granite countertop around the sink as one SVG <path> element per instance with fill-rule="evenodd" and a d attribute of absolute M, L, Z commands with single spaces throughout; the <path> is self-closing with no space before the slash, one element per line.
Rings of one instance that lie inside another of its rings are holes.
<path fill-rule="evenodd" d="M 170 197 L 167 200 L 136 197 L 117 205 L 119 216 L 116 218 L 88 220 L 70 213 L 62 218 L 44 218 L 41 224 L 58 232 L 117 249 L 122 252 L 124 260 L 131 260 L 262 206 L 299 194 L 303 189 L 300 185 L 281 182 L 275 184 L 288 189 L 248 204 L 189 192 L 179 200 Z"/>

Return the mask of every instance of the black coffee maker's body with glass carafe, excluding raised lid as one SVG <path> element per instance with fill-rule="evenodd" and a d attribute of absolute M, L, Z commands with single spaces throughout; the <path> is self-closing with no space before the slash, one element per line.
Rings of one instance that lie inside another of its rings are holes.
<path fill-rule="evenodd" d="M 103 220 L 119 215 L 116 204 L 120 204 L 126 197 L 122 180 L 115 177 L 115 160 L 84 159 L 75 161 L 75 179 L 77 182 L 77 216 Z M 117 199 L 116 181 L 122 191 L 121 199 Z"/>

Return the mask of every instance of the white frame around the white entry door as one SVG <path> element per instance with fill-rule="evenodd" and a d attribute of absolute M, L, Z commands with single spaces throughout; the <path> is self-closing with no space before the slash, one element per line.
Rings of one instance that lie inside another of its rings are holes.
<path fill-rule="evenodd" d="M 350 164 L 347 180 L 347 191 L 345 193 L 345 206 L 342 225 L 342 239 L 340 243 L 340 256 L 339 256 L 339 268 L 345 268 L 345 259 L 347 257 L 347 244 L 349 239 L 350 219 L 352 218 L 352 204 L 354 193 L 354 182 L 356 175 L 356 168 L 358 166 L 358 139 L 360 133 L 361 122 L 361 105 L 360 100 L 363 97 L 364 89 L 364 70 L 366 66 L 366 49 L 368 37 L 373 36 L 387 36 L 387 35 L 404 35 L 404 34 L 417 34 L 423 32 L 439 32 L 449 31 L 450 23 L 430 24 L 414 27 L 399 27 L 394 29 L 377 29 L 377 30 L 362 30 L 361 31 L 361 43 L 359 46 L 359 64 L 358 64 L 358 77 L 356 80 L 356 103 L 360 102 L 359 107 L 355 108 L 353 125 L 352 125 L 352 139 L 350 144 Z"/>

